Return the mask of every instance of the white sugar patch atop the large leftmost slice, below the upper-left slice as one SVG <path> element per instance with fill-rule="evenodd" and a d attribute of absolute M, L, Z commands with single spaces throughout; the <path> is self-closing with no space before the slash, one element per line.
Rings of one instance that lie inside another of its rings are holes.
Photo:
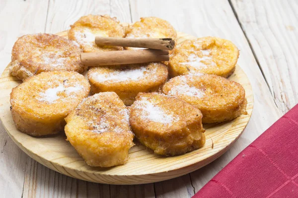
<path fill-rule="evenodd" d="M 40 98 L 38 98 L 39 101 L 46 101 L 49 103 L 54 103 L 57 99 L 60 97 L 58 96 L 59 92 L 66 92 L 67 95 L 77 92 L 79 90 L 83 89 L 82 86 L 76 86 L 76 87 L 64 87 L 63 84 L 60 84 L 58 87 L 55 88 L 49 88 L 44 93 L 39 93 Z"/>

